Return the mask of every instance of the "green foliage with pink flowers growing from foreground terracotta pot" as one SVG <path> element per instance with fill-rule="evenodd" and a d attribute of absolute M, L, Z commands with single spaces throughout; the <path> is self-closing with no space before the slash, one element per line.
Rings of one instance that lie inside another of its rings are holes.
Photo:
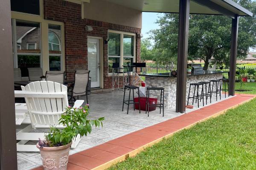
<path fill-rule="evenodd" d="M 80 108 L 67 107 L 64 114 L 59 119 L 59 125 L 63 125 L 64 129 L 58 129 L 55 126 L 50 127 L 46 134 L 46 141 L 39 140 L 41 147 L 62 146 L 72 142 L 75 137 L 87 136 L 91 133 L 92 127 L 103 126 L 104 117 L 96 120 L 87 119 L 89 114 L 89 105 Z"/>

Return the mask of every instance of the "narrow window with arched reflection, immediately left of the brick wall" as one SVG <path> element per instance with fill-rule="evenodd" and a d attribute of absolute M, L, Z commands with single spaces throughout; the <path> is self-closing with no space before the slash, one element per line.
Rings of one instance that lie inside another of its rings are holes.
<path fill-rule="evenodd" d="M 61 26 L 48 26 L 49 70 L 61 71 Z"/>

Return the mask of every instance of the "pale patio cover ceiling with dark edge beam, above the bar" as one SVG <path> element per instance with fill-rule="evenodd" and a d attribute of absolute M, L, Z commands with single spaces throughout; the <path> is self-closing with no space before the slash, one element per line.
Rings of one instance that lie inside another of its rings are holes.
<path fill-rule="evenodd" d="M 179 13 L 179 0 L 105 0 L 143 12 Z M 190 14 L 214 14 L 234 17 L 252 16 L 247 9 L 232 0 L 191 0 Z"/>

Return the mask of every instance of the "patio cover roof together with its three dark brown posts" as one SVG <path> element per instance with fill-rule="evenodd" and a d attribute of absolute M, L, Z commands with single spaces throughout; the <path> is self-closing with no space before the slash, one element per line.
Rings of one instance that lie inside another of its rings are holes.
<path fill-rule="evenodd" d="M 79 1 L 79 0 L 77 0 Z M 80 0 L 84 2 L 84 0 Z M 87 0 L 89 2 L 89 0 Z M 186 63 L 188 55 L 188 32 L 190 14 L 227 15 L 232 18 L 229 93 L 235 95 L 236 51 L 239 16 L 252 16 L 247 9 L 232 0 L 105 0 L 128 8 L 148 12 L 179 13 L 179 36 L 177 51 L 176 112 L 185 111 Z M 106 7 L 107 8 L 107 7 Z M 12 26 L 10 0 L 0 1 L 0 169 L 17 169 L 15 108 L 12 59 Z"/>

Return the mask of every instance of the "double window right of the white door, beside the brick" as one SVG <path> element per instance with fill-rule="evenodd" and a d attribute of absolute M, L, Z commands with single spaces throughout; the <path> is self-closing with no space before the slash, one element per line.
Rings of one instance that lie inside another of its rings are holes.
<path fill-rule="evenodd" d="M 119 66 L 134 62 L 135 56 L 135 34 L 119 31 L 109 31 L 108 33 L 108 72 L 112 73 L 113 63 Z"/>

